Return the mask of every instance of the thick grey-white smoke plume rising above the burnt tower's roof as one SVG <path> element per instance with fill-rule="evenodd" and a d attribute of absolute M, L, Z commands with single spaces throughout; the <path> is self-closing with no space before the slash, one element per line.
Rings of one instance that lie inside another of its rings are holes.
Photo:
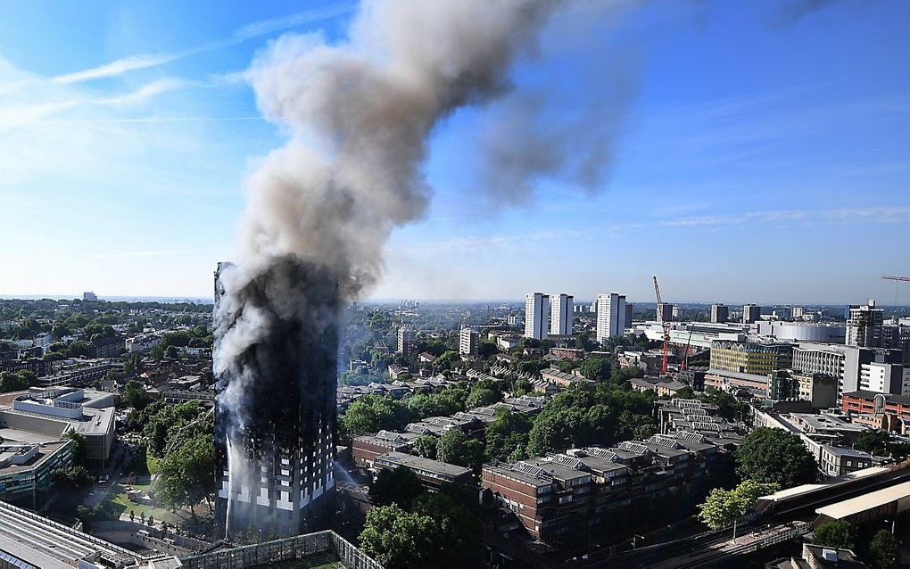
<path fill-rule="evenodd" d="M 278 38 L 248 77 L 290 141 L 249 181 L 241 260 L 291 254 L 334 269 L 344 297 L 369 287 L 391 229 L 427 207 L 433 128 L 508 92 L 511 64 L 559 4 L 373 0 L 347 43 Z"/>

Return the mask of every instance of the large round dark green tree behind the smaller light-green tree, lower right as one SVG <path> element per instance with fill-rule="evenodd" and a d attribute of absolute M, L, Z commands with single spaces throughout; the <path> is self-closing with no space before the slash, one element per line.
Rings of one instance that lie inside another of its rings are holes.
<path fill-rule="evenodd" d="M 800 438 L 783 429 L 759 427 L 736 450 L 736 473 L 743 479 L 778 483 L 783 488 L 815 481 L 815 457 Z"/>

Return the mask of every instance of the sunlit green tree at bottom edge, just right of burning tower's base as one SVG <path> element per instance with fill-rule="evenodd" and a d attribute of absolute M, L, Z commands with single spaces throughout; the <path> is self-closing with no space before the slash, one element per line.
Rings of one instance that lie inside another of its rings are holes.
<path fill-rule="evenodd" d="M 442 538 L 436 520 L 393 503 L 370 508 L 360 548 L 386 569 L 441 569 L 448 555 L 440 548 Z"/>

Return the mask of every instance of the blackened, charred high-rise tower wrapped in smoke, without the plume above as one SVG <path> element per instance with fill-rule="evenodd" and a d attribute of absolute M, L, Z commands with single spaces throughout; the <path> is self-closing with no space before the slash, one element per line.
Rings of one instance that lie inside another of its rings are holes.
<path fill-rule="evenodd" d="M 324 529 L 335 481 L 339 292 L 328 269 L 274 259 L 215 274 L 219 536 Z"/>

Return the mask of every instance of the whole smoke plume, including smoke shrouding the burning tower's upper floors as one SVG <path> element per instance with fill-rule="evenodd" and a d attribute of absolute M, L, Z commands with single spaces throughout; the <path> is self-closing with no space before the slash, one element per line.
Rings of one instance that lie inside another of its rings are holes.
<path fill-rule="evenodd" d="M 275 393 L 295 378 L 302 408 L 334 410 L 340 307 L 379 279 L 391 230 L 425 212 L 433 129 L 507 94 L 511 66 L 559 5 L 364 0 L 347 41 L 286 35 L 257 56 L 248 80 L 288 143 L 249 178 L 238 267 L 220 273 L 215 371 L 228 441 L 287 411 Z M 228 503 L 252 479 L 238 462 Z"/>

